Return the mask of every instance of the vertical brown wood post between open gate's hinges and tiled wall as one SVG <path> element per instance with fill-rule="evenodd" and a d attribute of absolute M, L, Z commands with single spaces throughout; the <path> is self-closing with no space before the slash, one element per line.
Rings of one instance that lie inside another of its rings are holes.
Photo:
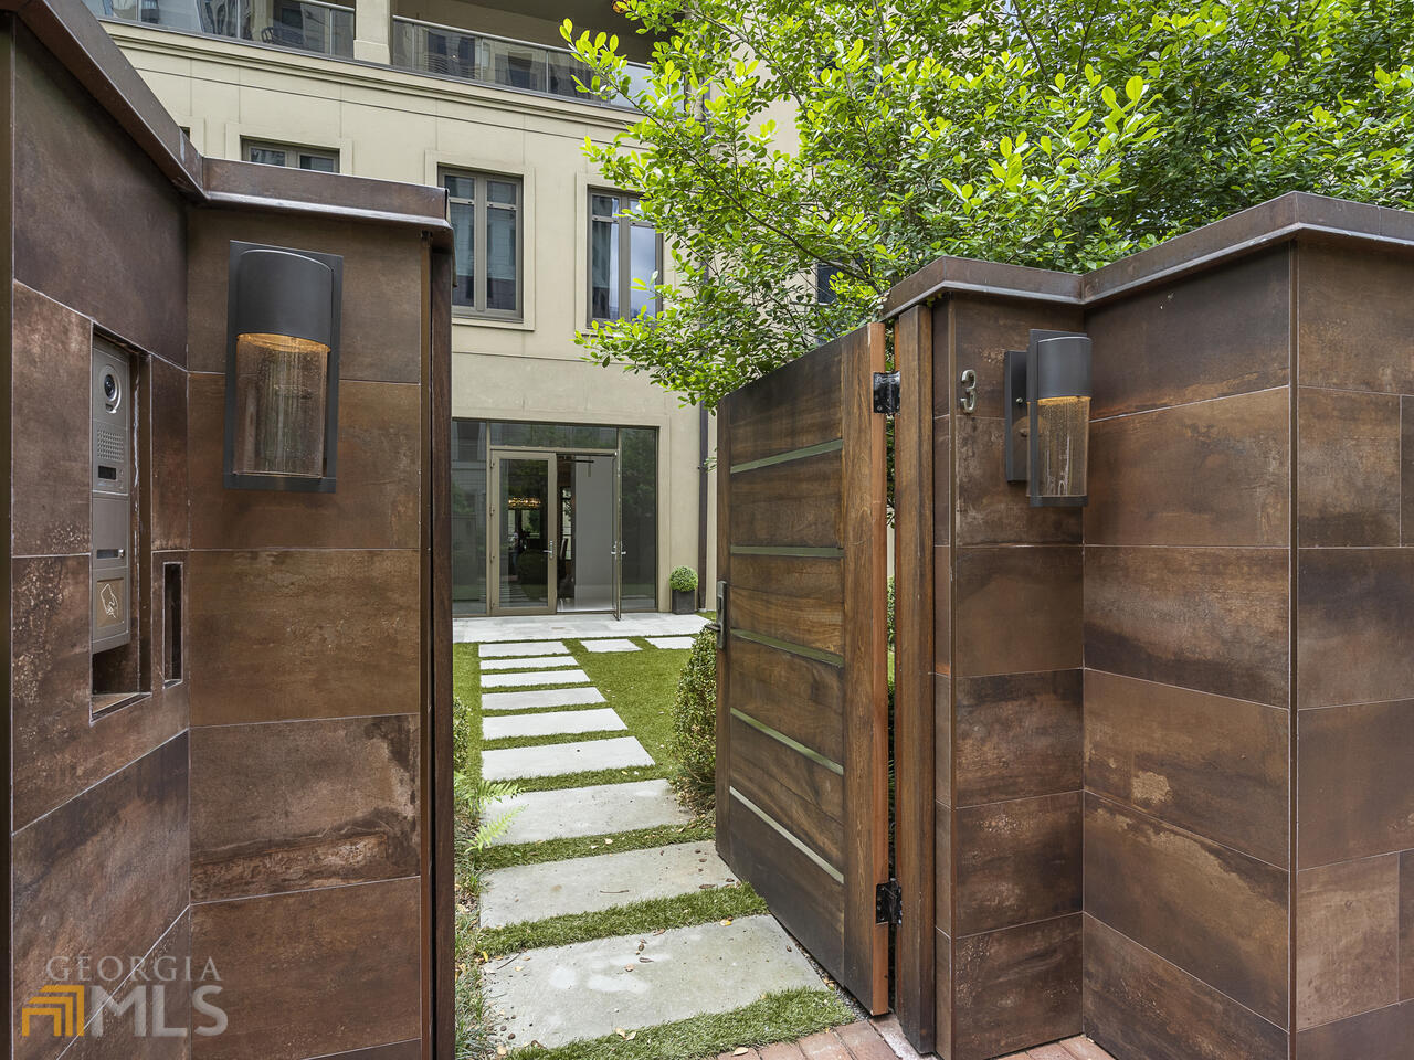
<path fill-rule="evenodd" d="M 905 380 L 894 418 L 894 786 L 895 875 L 904 923 L 894 998 L 905 1036 L 935 1046 L 935 683 L 933 683 L 933 314 L 905 312 L 894 331 Z"/>

